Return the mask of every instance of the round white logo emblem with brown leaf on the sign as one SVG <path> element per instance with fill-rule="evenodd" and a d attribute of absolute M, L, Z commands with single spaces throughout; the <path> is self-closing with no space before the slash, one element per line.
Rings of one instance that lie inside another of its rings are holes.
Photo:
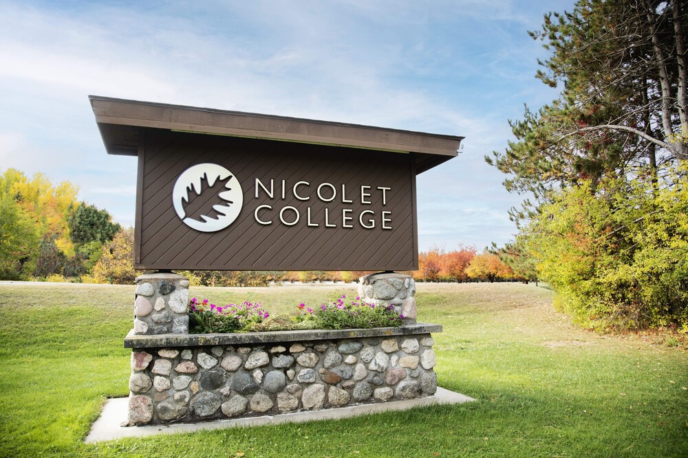
<path fill-rule="evenodd" d="M 213 190 L 215 184 L 224 182 L 220 190 Z M 206 195 L 211 194 L 211 195 Z M 207 208 L 198 212 L 200 219 L 186 216 L 184 205 L 202 198 Z M 172 190 L 172 203 L 177 215 L 185 225 L 202 232 L 221 231 L 237 219 L 244 192 L 237 178 L 222 165 L 204 163 L 189 167 L 180 174 Z"/>

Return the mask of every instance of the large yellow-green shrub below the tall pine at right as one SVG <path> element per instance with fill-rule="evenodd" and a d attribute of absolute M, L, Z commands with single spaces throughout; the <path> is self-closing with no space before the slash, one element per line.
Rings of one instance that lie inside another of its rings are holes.
<path fill-rule="evenodd" d="M 688 332 L 688 186 L 610 177 L 559 192 L 519 235 L 557 306 L 598 330 Z"/>

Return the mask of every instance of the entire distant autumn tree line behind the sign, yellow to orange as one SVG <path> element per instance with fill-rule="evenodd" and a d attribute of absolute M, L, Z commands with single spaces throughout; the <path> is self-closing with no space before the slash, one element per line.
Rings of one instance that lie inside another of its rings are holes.
<path fill-rule="evenodd" d="M 81 202 L 78 188 L 54 185 L 44 174 L 0 175 L 0 279 L 131 284 L 133 229 L 113 222 L 105 209 Z M 180 271 L 195 285 L 267 286 L 271 282 L 357 282 L 369 271 Z M 525 279 L 493 253 L 475 247 L 419 255 L 420 282 Z"/>

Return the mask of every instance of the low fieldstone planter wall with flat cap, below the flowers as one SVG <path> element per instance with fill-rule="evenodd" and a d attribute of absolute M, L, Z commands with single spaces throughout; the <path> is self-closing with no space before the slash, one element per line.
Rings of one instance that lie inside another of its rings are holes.
<path fill-rule="evenodd" d="M 125 346 L 133 348 L 129 425 L 429 396 L 437 389 L 437 378 L 428 330 L 441 327 L 358 330 L 358 336 L 356 330 L 335 331 L 329 332 L 329 339 L 322 338 L 327 332 L 316 332 L 299 341 L 280 341 L 279 333 L 143 336 L 157 340 L 130 333 L 125 340 Z M 370 336 L 372 332 L 376 336 Z M 229 339 L 238 343 L 227 345 Z M 155 347 L 155 343 L 174 345 Z"/>

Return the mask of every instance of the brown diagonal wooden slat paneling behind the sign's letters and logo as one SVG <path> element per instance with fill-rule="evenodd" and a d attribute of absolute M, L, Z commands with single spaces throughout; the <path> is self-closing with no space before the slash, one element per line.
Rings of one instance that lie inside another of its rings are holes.
<path fill-rule="evenodd" d="M 202 122 L 204 117 L 193 121 Z M 400 271 L 417 266 L 413 240 L 415 174 L 410 154 L 145 130 L 144 157 L 140 161 L 144 170 L 140 171 L 137 267 Z M 187 227 L 172 205 L 171 193 L 177 177 L 191 165 L 204 162 L 218 163 L 233 172 L 244 192 L 239 218 L 215 233 Z M 256 178 L 266 185 L 271 178 L 275 179 L 275 199 L 265 195 L 255 198 Z M 288 188 L 284 200 L 279 198 L 282 179 L 287 180 Z M 310 201 L 299 201 L 292 195 L 291 188 L 297 181 L 311 183 L 310 187 L 301 188 L 302 194 L 312 196 Z M 332 183 L 338 190 L 337 198 L 330 203 L 323 203 L 316 196 L 316 188 L 323 182 Z M 354 203 L 342 203 L 342 183 L 346 183 L 347 198 Z M 370 205 L 361 204 L 361 185 L 372 186 Z M 376 186 L 392 188 L 387 192 L 387 205 L 383 205 Z M 273 206 L 269 213 L 272 225 L 263 226 L 255 221 L 253 210 L 261 204 Z M 290 227 L 279 222 L 279 209 L 286 205 L 299 209 L 301 220 L 297 225 Z M 308 207 L 320 227 L 307 227 Z M 325 208 L 336 228 L 324 227 Z M 344 208 L 353 210 L 352 229 L 341 227 Z M 358 224 L 358 213 L 364 209 L 375 211 L 375 229 L 364 229 Z M 381 229 L 383 210 L 392 211 L 394 230 Z"/>

